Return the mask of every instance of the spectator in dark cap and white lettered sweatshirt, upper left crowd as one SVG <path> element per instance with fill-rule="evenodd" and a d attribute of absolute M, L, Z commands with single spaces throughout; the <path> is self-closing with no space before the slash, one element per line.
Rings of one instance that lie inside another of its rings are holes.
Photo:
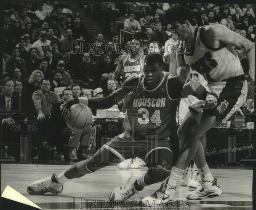
<path fill-rule="evenodd" d="M 32 47 L 35 47 L 38 50 L 38 54 L 37 54 L 38 59 L 43 59 L 45 57 L 46 49 L 51 48 L 50 46 L 51 41 L 47 40 L 46 37 L 47 37 L 47 32 L 40 31 L 40 39 L 35 41 L 32 45 Z"/>

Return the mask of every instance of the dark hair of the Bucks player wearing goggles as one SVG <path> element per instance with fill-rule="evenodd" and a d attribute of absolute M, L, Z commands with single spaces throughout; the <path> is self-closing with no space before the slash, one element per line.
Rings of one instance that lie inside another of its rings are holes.
<path fill-rule="evenodd" d="M 183 6 L 172 7 L 165 12 L 165 19 L 168 24 L 178 21 L 180 24 L 184 24 L 186 20 L 190 22 L 192 26 L 195 26 L 194 15 L 191 9 Z"/>

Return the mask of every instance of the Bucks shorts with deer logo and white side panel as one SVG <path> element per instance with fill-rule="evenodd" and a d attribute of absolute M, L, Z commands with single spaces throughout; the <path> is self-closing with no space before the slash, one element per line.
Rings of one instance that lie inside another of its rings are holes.
<path fill-rule="evenodd" d="M 210 115 L 217 117 L 218 121 L 228 120 L 246 101 L 247 81 L 212 82 L 208 84 L 210 92 L 217 95 L 217 106 L 204 109 Z"/>

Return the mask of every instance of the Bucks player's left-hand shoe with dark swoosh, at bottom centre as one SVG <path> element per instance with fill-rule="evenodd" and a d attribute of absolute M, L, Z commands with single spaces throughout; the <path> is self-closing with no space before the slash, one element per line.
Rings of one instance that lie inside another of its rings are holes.
<path fill-rule="evenodd" d="M 147 196 L 142 199 L 142 203 L 147 206 L 173 203 L 174 194 L 176 192 L 176 187 L 171 187 L 167 181 L 161 184 L 161 187 L 154 192 L 152 195 Z"/>

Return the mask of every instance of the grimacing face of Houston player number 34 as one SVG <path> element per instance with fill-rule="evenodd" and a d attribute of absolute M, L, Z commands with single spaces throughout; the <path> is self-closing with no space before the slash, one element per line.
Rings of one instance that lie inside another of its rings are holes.
<path fill-rule="evenodd" d="M 158 62 L 147 63 L 147 61 L 145 61 L 143 72 L 145 74 L 147 84 L 158 84 L 161 80 L 163 67 L 161 67 Z"/>

